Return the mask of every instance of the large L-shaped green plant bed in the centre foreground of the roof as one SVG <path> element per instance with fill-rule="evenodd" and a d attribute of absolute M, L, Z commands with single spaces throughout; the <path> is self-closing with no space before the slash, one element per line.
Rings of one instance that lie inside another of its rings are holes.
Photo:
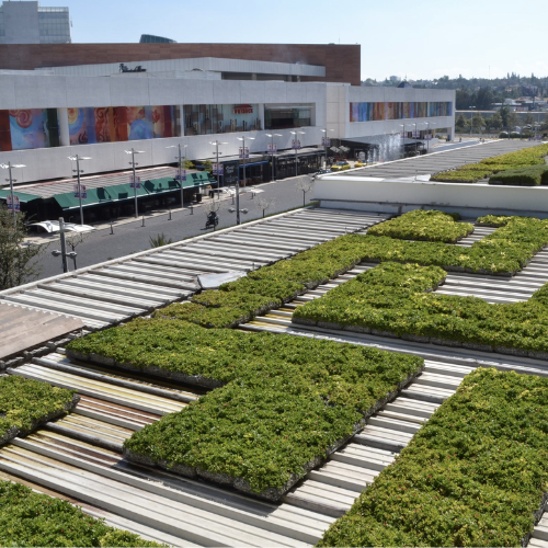
<path fill-rule="evenodd" d="M 422 369 L 418 356 L 272 333 L 138 319 L 72 341 L 101 355 L 220 383 L 136 432 L 127 458 L 277 500 Z"/>

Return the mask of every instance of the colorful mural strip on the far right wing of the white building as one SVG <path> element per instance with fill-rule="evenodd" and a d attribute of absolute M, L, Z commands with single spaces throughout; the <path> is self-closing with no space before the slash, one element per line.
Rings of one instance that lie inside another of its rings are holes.
<path fill-rule="evenodd" d="M 350 103 L 351 122 L 450 116 L 450 102 Z"/>

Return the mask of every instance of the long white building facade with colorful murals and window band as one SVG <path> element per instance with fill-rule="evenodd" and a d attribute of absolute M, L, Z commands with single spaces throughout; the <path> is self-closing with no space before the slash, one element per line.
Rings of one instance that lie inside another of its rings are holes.
<path fill-rule="evenodd" d="M 213 158 L 216 140 L 226 142 L 222 156 L 238 155 L 242 136 L 253 138 L 250 153 L 265 155 L 272 142 L 290 150 L 296 130 L 302 148 L 320 147 L 326 135 L 393 135 L 403 124 L 406 133 L 454 134 L 454 91 L 286 81 L 321 76 L 305 65 L 224 59 L 190 69 L 187 61 L 144 72 L 0 71 L 0 163 L 24 164 L 19 181 L 34 182 L 70 178 L 67 157 L 76 153 L 91 157 L 87 173 L 102 173 L 127 169 L 129 148 L 142 151 L 139 167 L 152 167 L 173 163 L 169 147 L 179 144 L 190 159 Z M 227 67 L 252 78 L 221 79 Z"/>

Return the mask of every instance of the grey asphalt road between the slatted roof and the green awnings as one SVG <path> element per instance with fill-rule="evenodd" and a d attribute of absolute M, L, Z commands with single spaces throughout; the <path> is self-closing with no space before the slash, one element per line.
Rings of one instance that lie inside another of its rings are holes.
<path fill-rule="evenodd" d="M 251 192 L 247 192 L 240 196 L 240 208 L 248 208 L 248 214 L 241 214 L 241 221 L 259 219 L 263 212 L 259 209 L 261 199 L 273 199 L 273 205 L 266 210 L 266 215 L 272 215 L 287 209 L 302 207 L 302 192 L 297 190 L 296 185 L 299 178 L 285 179 L 274 183 L 263 183 L 253 185 L 254 190 L 264 192 L 251 196 Z M 308 175 L 305 175 L 309 180 Z M 313 190 L 305 195 L 306 203 L 313 199 Z M 216 199 L 217 201 L 217 199 Z M 195 206 L 194 212 L 191 208 L 176 209 L 172 213 L 172 220 L 168 214 L 145 216 L 145 227 L 142 220 L 125 222 L 114 227 L 114 235 L 111 235 L 110 228 L 91 232 L 85 241 L 78 244 L 76 248 L 77 266 L 81 269 L 118 256 L 128 255 L 138 251 L 150 249 L 150 238 L 163 233 L 165 238 L 171 238 L 174 242 L 199 236 L 212 230 L 205 229 L 207 217 L 206 205 L 212 202 L 210 198 L 204 197 L 201 205 Z M 217 213 L 219 216 L 219 225 L 217 229 L 227 228 L 236 225 L 236 213 L 230 213 L 229 207 L 232 205 L 230 197 L 220 201 L 220 208 Z M 62 274 L 62 265 L 60 256 L 53 256 L 53 250 L 59 250 L 59 239 L 53 240 L 44 255 L 39 260 L 42 273 L 39 279 Z M 69 270 L 73 270 L 73 262 L 68 259 Z"/>

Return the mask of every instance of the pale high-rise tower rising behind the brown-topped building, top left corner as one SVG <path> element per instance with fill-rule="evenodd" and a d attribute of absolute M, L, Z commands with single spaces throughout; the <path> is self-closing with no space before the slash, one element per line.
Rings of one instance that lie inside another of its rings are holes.
<path fill-rule="evenodd" d="M 67 44 L 68 8 L 42 8 L 39 2 L 2 2 L 0 44 Z"/>

